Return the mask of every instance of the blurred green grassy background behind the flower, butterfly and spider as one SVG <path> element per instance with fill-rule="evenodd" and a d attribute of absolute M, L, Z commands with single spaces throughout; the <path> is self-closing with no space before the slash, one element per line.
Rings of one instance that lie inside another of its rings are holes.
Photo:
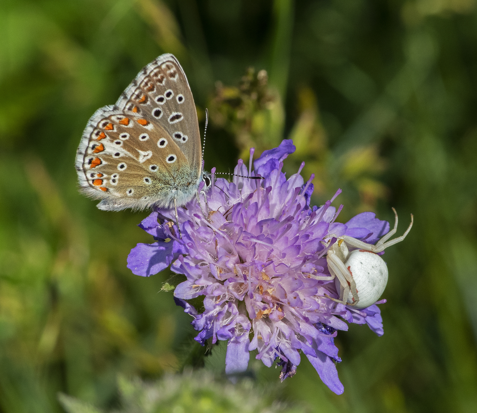
<path fill-rule="evenodd" d="M 110 408 L 118 373 L 200 367 L 189 317 L 159 292 L 168 271 L 126 268 L 152 242 L 147 212 L 99 211 L 74 171 L 91 114 L 164 52 L 201 130 L 209 108 L 207 169 L 292 138 L 286 171 L 306 161 L 317 204 L 341 187 L 342 222 L 395 207 L 400 234 L 415 217 L 386 250 L 384 336 L 338 335 L 344 394 L 304 357 L 282 384 L 251 363 L 257 385 L 311 412 L 475 412 L 474 0 L 2 0 L 0 412 L 61 412 L 57 392 Z"/>

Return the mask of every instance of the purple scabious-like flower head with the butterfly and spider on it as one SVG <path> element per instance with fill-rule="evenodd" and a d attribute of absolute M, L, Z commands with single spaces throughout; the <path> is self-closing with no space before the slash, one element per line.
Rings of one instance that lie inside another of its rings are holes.
<path fill-rule="evenodd" d="M 382 335 L 383 324 L 375 304 L 356 310 L 330 299 L 339 293 L 334 281 L 319 279 L 330 276 L 323 239 L 333 234 L 375 242 L 389 224 L 370 212 L 336 223 L 342 207 L 331 206 L 334 197 L 310 207 L 313 176 L 304 182 L 304 164 L 288 179 L 281 172 L 282 161 L 294 151 L 292 141 L 284 140 L 255 161 L 254 172 L 251 163 L 247 170 L 239 160 L 235 174 L 265 179 L 217 179 L 207 204 L 201 197 L 207 218 L 196 199 L 178 209 L 182 238 L 173 211 L 153 212 L 140 227 L 156 242 L 133 248 L 128 268 L 149 276 L 172 263 L 172 271 L 187 277 L 174 291 L 176 303 L 193 317 L 199 343 L 228 341 L 227 373 L 246 370 L 250 351 L 256 351 L 266 366 L 278 362 L 284 380 L 295 374 L 303 353 L 321 380 L 341 394 L 337 330 L 348 329 L 345 321 L 366 323 Z M 200 314 L 187 302 L 199 296 L 204 303 Z"/>

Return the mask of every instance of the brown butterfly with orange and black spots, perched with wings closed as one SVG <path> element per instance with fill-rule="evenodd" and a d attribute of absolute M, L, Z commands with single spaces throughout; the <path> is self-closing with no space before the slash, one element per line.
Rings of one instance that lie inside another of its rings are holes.
<path fill-rule="evenodd" d="M 91 116 L 75 167 L 81 191 L 105 211 L 177 209 L 198 197 L 202 181 L 210 185 L 194 98 L 176 57 L 146 65 L 114 105 Z"/>

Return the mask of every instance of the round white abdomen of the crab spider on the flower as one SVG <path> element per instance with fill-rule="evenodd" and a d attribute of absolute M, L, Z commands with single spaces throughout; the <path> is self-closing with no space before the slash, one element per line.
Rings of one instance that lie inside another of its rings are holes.
<path fill-rule="evenodd" d="M 373 252 L 355 249 L 344 264 L 353 275 L 359 302 L 354 308 L 363 309 L 374 304 L 383 294 L 388 279 L 388 270 L 383 258 Z M 348 302 L 353 302 L 351 292 Z"/>

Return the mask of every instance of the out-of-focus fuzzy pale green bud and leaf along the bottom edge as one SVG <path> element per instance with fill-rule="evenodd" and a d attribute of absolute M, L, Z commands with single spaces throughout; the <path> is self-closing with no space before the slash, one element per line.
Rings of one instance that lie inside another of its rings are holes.
<path fill-rule="evenodd" d="M 155 382 L 118 377 L 121 408 L 115 413 L 304 413 L 301 406 L 287 405 L 273 400 L 273 388 L 265 393 L 250 380 L 237 385 L 215 380 L 210 372 L 185 371 L 183 374 L 166 374 Z M 68 413 L 101 413 L 89 403 L 84 403 L 60 393 L 58 399 Z"/>

